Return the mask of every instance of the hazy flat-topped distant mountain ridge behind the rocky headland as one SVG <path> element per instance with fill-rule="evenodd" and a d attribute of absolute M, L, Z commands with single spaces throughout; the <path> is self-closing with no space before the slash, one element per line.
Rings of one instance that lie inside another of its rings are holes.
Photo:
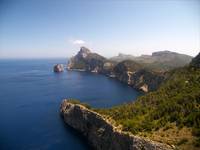
<path fill-rule="evenodd" d="M 159 51 L 152 53 L 152 55 L 141 55 L 139 57 L 120 53 L 118 56 L 110 58 L 110 60 L 117 62 L 127 59 L 144 64 L 146 68 L 149 69 L 166 71 L 189 64 L 192 60 L 192 57 L 170 51 Z"/>

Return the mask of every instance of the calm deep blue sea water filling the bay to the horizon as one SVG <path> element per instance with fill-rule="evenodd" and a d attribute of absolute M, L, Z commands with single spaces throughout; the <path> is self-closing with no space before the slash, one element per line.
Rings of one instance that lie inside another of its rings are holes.
<path fill-rule="evenodd" d="M 0 60 L 0 149 L 84 150 L 87 142 L 59 116 L 64 98 L 110 107 L 140 93 L 103 75 L 53 73 L 65 59 Z"/>

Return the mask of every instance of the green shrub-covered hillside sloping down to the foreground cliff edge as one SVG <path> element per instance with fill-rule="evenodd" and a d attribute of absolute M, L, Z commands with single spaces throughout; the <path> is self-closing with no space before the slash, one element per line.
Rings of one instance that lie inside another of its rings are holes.
<path fill-rule="evenodd" d="M 181 147 L 189 143 L 199 148 L 200 69 L 176 69 L 157 91 L 141 96 L 132 103 L 96 111 L 112 117 L 123 126 L 124 131 L 145 133 L 147 137 L 154 135 L 153 139 L 167 142 L 163 136 L 173 129 L 173 132 L 168 133 L 167 139 L 178 139 L 169 144 Z M 183 131 L 188 136 L 182 136 Z M 180 133 L 172 134 L 176 132 Z"/>

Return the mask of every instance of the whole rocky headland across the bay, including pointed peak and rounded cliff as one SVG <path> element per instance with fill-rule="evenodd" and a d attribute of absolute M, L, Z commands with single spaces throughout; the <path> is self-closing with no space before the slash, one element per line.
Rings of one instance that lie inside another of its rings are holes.
<path fill-rule="evenodd" d="M 68 69 L 105 74 L 144 92 L 157 89 L 165 79 L 163 73 L 145 69 L 144 65 L 133 60 L 118 63 L 85 47 L 69 60 Z"/>

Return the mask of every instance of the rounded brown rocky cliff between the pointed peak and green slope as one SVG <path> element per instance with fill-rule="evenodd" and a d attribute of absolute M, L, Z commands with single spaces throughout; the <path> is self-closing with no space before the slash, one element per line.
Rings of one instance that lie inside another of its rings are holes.
<path fill-rule="evenodd" d="M 118 63 L 113 74 L 118 80 L 144 92 L 156 90 L 165 79 L 165 74 L 144 69 L 131 60 Z"/>

